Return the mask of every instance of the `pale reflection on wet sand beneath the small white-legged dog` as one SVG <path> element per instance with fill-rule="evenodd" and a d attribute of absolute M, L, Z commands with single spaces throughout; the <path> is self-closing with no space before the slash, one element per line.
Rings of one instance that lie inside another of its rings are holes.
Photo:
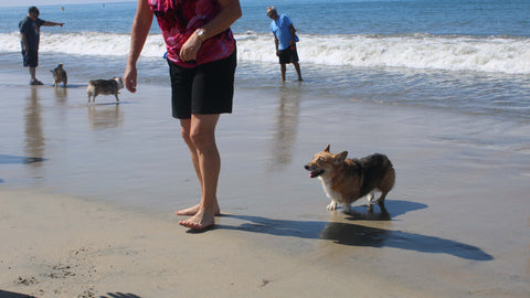
<path fill-rule="evenodd" d="M 119 104 L 89 105 L 88 123 L 94 130 L 120 127 L 124 124 L 123 114 Z"/>

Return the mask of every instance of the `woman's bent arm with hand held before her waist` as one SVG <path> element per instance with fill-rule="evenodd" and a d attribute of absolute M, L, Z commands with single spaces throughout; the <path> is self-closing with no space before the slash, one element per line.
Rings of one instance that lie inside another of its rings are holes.
<path fill-rule="evenodd" d="M 197 53 L 202 46 L 202 42 L 218 35 L 221 32 L 224 32 L 229 29 L 237 19 L 241 18 L 241 4 L 240 0 L 219 0 L 221 6 L 221 11 L 219 14 L 213 18 L 209 23 L 204 24 L 202 30 L 204 34 L 199 38 L 195 33 L 191 34 L 188 41 L 182 45 L 180 50 L 179 57 L 182 61 L 193 61 L 197 58 Z M 198 29 L 199 30 L 199 29 Z"/>

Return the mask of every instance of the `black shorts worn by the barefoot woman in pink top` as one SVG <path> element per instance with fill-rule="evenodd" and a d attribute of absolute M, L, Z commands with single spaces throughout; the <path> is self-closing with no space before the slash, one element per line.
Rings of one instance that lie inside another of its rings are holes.
<path fill-rule="evenodd" d="M 169 63 L 172 116 L 189 119 L 193 114 L 232 113 L 236 51 L 229 57 L 186 68 Z"/>

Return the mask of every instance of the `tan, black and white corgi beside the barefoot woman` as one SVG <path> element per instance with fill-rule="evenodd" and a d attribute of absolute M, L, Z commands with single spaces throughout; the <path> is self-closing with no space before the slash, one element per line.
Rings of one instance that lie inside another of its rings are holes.
<path fill-rule="evenodd" d="M 310 178 L 322 182 L 324 190 L 331 203 L 328 210 L 336 210 L 338 203 L 343 205 L 344 213 L 350 212 L 350 204 L 367 196 L 368 210 L 372 210 L 375 191 L 381 192 L 378 204 L 381 212 L 386 212 L 384 199 L 395 182 L 395 171 L 390 159 L 374 153 L 361 159 L 347 159 L 348 151 L 337 155 L 329 152 L 329 145 L 324 151 L 315 155 L 304 168 L 310 171 Z"/>

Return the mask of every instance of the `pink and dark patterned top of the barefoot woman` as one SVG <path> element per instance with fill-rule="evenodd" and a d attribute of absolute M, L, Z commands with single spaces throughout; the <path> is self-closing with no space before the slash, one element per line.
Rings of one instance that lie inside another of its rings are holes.
<path fill-rule="evenodd" d="M 195 62 L 183 62 L 179 52 L 193 32 L 210 22 L 221 11 L 216 0 L 149 0 L 162 31 L 168 60 L 183 67 L 218 61 L 230 56 L 235 50 L 235 39 L 230 28 L 202 44 Z"/>

